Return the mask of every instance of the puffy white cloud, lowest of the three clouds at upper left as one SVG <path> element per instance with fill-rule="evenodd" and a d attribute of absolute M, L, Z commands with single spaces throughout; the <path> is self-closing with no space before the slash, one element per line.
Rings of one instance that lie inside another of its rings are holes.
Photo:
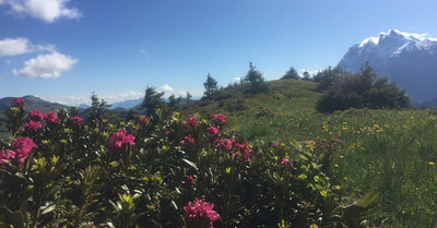
<path fill-rule="evenodd" d="M 72 59 L 59 52 L 39 55 L 34 59 L 24 62 L 25 67 L 21 70 L 12 70 L 14 75 L 24 75 L 27 77 L 57 79 L 62 71 L 70 70 L 78 59 Z"/>

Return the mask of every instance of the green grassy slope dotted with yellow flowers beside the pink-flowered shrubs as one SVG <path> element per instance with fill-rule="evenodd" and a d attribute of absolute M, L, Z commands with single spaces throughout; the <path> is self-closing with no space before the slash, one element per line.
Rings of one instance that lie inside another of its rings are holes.
<path fill-rule="evenodd" d="M 380 194 L 373 223 L 394 227 L 437 224 L 437 111 L 347 110 L 318 113 L 316 83 L 270 82 L 271 94 L 227 88 L 212 100 L 192 103 L 182 112 L 224 112 L 228 124 L 252 143 L 340 139 L 333 156 L 335 177 L 350 195 Z M 271 113 L 261 113 L 262 109 Z"/>

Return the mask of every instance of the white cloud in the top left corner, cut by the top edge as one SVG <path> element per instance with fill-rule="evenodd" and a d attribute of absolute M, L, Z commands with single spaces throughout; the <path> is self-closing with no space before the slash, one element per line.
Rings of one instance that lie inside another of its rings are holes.
<path fill-rule="evenodd" d="M 19 14 L 51 23 L 57 19 L 79 19 L 82 13 L 76 9 L 69 9 L 66 3 L 70 0 L 0 0 L 0 4 L 11 5 L 11 10 Z"/>

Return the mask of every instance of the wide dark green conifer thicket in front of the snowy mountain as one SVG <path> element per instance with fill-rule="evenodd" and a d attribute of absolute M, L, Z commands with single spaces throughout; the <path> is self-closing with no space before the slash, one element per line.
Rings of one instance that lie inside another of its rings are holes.
<path fill-rule="evenodd" d="M 410 106 L 410 98 L 405 91 L 388 79 L 377 77 L 368 62 L 361 74 L 345 74 L 340 71 L 322 73 L 319 88 L 328 87 L 327 94 L 317 103 L 319 111 L 332 112 L 349 108 L 405 108 Z"/>

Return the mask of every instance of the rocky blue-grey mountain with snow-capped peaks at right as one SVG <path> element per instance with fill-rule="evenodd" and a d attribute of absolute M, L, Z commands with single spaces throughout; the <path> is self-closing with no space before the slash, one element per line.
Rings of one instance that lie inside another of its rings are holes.
<path fill-rule="evenodd" d="M 437 97 L 437 38 L 390 29 L 352 46 L 339 67 L 356 73 L 366 60 L 378 75 L 406 89 L 413 104 Z"/>

